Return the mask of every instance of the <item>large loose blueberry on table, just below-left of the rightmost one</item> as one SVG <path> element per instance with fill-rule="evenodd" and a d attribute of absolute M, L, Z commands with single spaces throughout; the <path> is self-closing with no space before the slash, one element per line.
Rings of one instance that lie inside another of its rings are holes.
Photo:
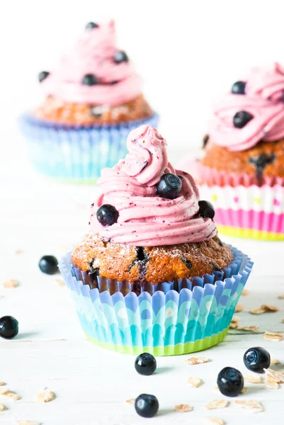
<path fill-rule="evenodd" d="M 223 395 L 236 397 L 244 387 L 242 373 L 235 368 L 224 368 L 217 377 L 217 385 Z"/>

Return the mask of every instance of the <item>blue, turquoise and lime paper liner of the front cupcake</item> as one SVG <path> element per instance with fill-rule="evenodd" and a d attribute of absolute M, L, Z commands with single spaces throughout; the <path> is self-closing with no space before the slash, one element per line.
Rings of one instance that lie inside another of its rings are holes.
<path fill-rule="evenodd" d="M 253 266 L 241 251 L 232 251 L 234 261 L 222 271 L 152 285 L 149 292 L 149 286 L 140 286 L 140 295 L 135 284 L 115 280 L 114 289 L 114 281 L 108 279 L 103 285 L 113 293 L 103 290 L 101 283 L 91 289 L 72 265 L 70 253 L 59 268 L 81 327 L 94 344 L 121 353 L 170 356 L 200 351 L 225 338 Z"/>

